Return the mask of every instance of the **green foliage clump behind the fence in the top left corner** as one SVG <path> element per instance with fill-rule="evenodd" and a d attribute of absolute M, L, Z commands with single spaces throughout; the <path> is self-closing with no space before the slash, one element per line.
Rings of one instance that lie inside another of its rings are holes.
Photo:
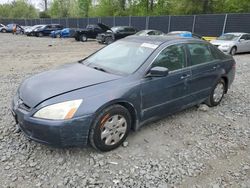
<path fill-rule="evenodd" d="M 27 0 L 0 5 L 0 18 L 37 18 L 38 11 Z"/>

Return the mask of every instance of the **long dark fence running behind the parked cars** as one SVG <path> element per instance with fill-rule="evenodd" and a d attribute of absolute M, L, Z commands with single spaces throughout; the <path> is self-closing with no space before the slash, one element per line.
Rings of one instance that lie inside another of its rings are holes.
<path fill-rule="evenodd" d="M 58 23 L 65 27 L 85 28 L 88 24 L 102 22 L 110 27 L 129 25 L 137 30 L 158 29 L 169 31 L 192 31 L 202 36 L 219 36 L 226 32 L 250 32 L 250 13 L 208 14 L 188 16 L 127 16 L 101 18 L 60 19 L 0 19 L 0 23 L 17 23 L 24 26 Z"/>

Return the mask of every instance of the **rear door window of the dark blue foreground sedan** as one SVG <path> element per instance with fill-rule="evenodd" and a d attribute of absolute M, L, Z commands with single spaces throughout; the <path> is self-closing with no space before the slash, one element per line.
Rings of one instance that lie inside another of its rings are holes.
<path fill-rule="evenodd" d="M 187 44 L 190 53 L 190 65 L 208 63 L 216 58 L 212 55 L 209 46 L 202 43 Z"/>

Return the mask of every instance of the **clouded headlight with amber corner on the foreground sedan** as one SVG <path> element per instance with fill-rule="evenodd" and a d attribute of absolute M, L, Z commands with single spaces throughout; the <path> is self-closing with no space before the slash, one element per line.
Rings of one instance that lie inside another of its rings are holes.
<path fill-rule="evenodd" d="M 82 103 L 82 99 L 52 104 L 34 114 L 36 118 L 63 120 L 71 119 Z"/>

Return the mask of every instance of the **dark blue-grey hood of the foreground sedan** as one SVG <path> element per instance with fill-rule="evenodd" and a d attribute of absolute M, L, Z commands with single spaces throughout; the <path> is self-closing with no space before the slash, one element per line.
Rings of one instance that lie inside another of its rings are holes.
<path fill-rule="evenodd" d="M 26 79 L 18 92 L 19 97 L 27 106 L 35 107 L 46 99 L 60 94 L 109 82 L 120 77 L 80 63 L 67 64 Z"/>

